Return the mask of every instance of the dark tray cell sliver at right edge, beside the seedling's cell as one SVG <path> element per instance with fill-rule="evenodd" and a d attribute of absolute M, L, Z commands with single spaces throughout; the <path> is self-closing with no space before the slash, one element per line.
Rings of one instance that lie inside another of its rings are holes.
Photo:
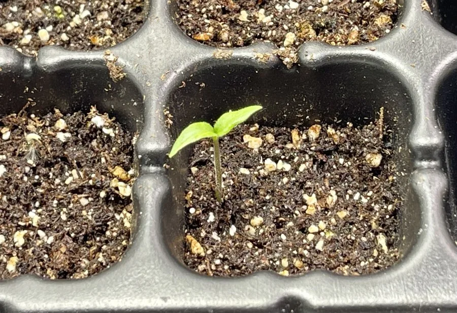
<path fill-rule="evenodd" d="M 457 137 L 455 135 L 457 124 L 455 121 L 457 121 L 457 112 L 454 107 L 455 103 L 457 103 L 456 85 L 457 71 L 455 71 L 454 68 L 442 81 L 437 92 L 437 117 L 440 128 L 444 133 L 445 164 L 449 178 L 449 197 L 446 203 L 446 214 L 448 226 L 454 240 L 457 240 L 456 182 L 454 175 L 457 170 L 457 162 L 455 159 L 455 146 L 457 145 Z"/>

